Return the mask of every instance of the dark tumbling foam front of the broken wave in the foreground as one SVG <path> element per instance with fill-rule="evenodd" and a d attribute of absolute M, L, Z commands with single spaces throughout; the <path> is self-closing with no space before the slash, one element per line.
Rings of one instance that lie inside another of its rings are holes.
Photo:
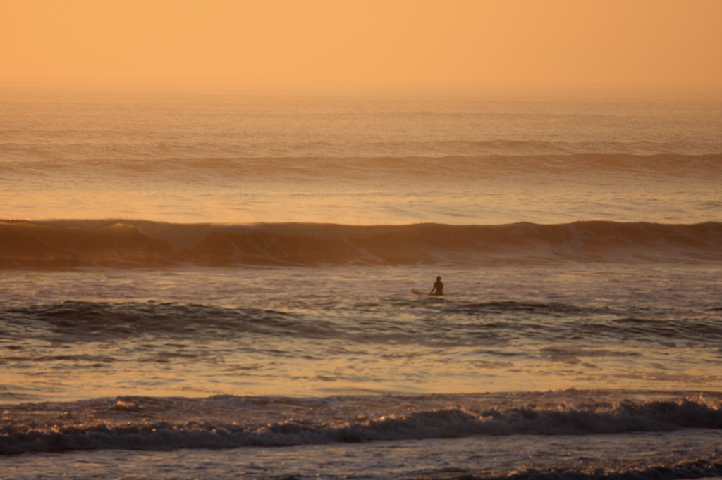
<path fill-rule="evenodd" d="M 113 408 L 139 407 L 118 401 Z M 722 428 L 722 411 L 695 401 L 622 402 L 617 406 L 490 409 L 459 408 L 379 417 L 346 425 L 286 420 L 266 425 L 210 422 L 123 422 L 121 425 L 14 425 L 0 430 L 0 454 L 121 448 L 237 448 L 372 440 L 409 440 L 471 435 L 590 435 Z"/>

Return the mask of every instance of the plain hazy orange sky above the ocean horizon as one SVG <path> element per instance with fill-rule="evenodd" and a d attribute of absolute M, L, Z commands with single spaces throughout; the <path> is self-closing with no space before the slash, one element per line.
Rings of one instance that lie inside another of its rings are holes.
<path fill-rule="evenodd" d="M 0 0 L 0 82 L 722 87 L 722 0 Z"/>

